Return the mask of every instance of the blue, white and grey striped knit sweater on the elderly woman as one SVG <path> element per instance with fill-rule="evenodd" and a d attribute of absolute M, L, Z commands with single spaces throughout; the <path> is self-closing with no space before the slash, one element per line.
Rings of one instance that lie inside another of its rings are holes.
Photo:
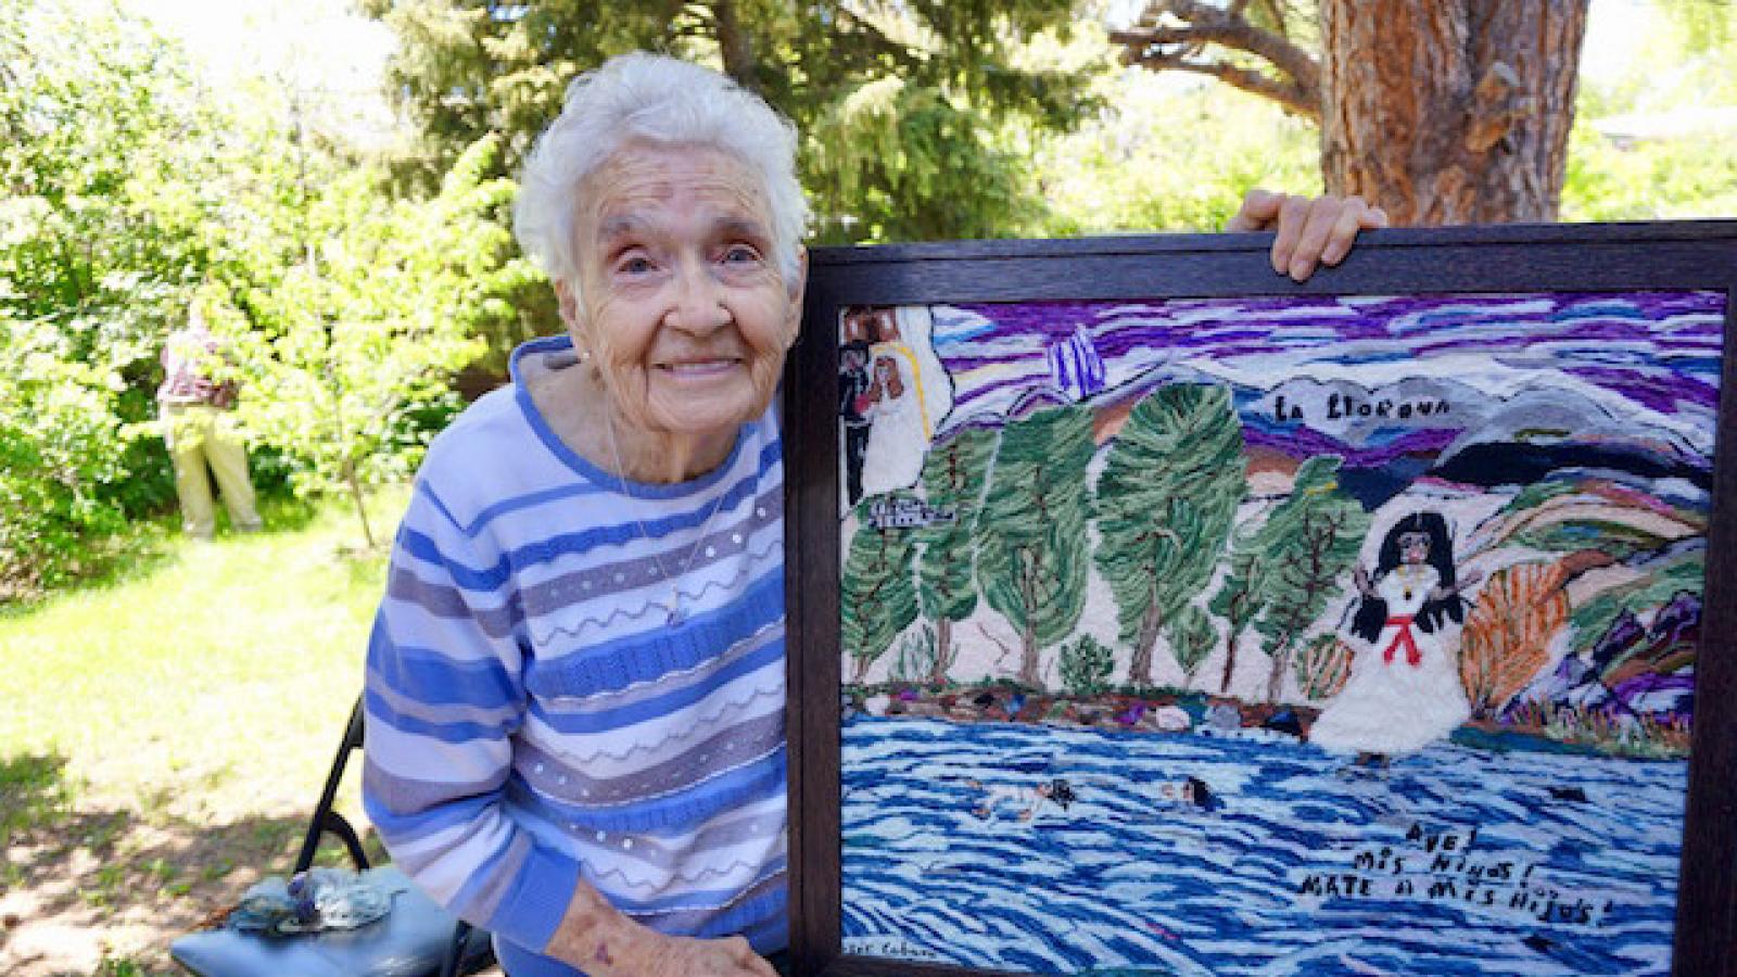
<path fill-rule="evenodd" d="M 585 880 L 660 932 L 778 949 L 776 421 L 698 480 L 624 483 L 532 403 L 571 360 L 521 346 L 429 449 L 368 643 L 363 803 L 429 895 L 516 947 Z"/>

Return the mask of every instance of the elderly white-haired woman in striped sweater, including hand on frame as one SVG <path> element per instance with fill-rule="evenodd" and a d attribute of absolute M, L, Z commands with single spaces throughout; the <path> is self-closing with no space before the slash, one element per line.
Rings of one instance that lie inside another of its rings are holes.
<path fill-rule="evenodd" d="M 518 233 L 566 336 L 429 449 L 368 647 L 363 796 L 512 977 L 769 977 L 785 944 L 783 525 L 796 134 L 714 71 L 578 78 Z M 1357 202 L 1252 193 L 1275 268 Z"/>

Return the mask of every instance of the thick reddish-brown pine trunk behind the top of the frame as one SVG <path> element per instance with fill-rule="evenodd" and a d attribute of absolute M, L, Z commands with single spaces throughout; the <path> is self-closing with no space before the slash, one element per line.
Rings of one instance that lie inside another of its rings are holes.
<path fill-rule="evenodd" d="M 1322 0 L 1322 176 L 1395 224 L 1555 221 L 1589 0 Z"/>

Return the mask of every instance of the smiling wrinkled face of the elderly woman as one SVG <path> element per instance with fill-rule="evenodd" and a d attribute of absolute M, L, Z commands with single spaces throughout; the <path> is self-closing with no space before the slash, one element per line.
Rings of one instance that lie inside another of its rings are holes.
<path fill-rule="evenodd" d="M 679 436 L 759 417 L 802 308 L 802 275 L 773 266 L 763 183 L 719 150 L 629 143 L 582 191 L 580 299 L 556 292 L 620 415 Z"/>

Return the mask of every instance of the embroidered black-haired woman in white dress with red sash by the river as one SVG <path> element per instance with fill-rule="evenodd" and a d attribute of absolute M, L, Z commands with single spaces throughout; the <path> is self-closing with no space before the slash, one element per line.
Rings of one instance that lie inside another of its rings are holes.
<path fill-rule="evenodd" d="M 1310 742 L 1357 751 L 1360 760 L 1410 753 L 1454 732 L 1471 716 L 1452 648 L 1449 621 L 1464 621 L 1454 579 L 1454 549 L 1438 513 L 1412 513 L 1381 541 L 1376 579 L 1357 568 L 1362 605 L 1351 633 L 1369 641 L 1357 654 L 1344 690 L 1310 728 Z"/>

